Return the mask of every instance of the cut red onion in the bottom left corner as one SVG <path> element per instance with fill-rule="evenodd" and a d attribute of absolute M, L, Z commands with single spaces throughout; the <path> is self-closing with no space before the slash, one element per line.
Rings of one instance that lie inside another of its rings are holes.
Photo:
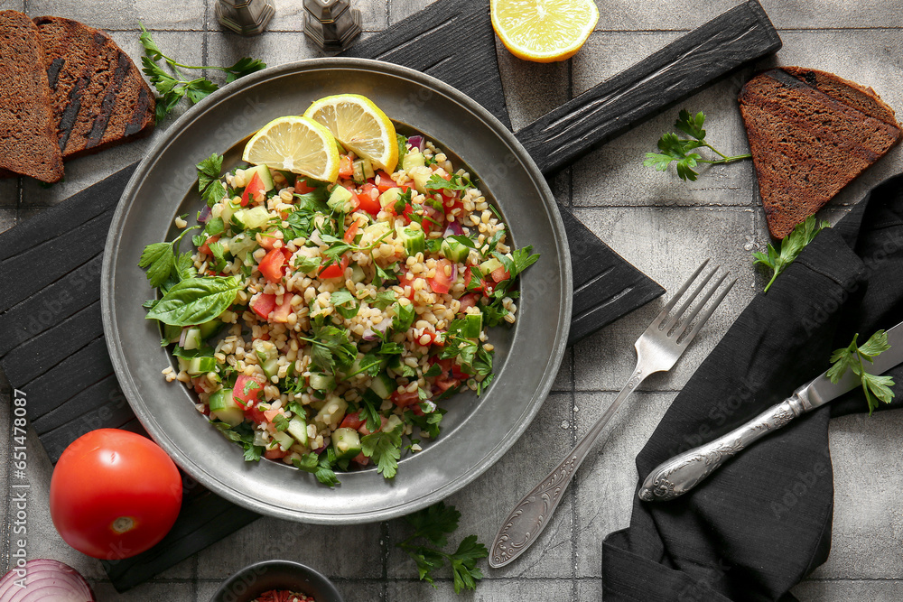
<path fill-rule="evenodd" d="M 24 585 L 24 587 L 22 587 Z M 59 560 L 29 560 L 0 580 L 0 602 L 95 602 L 88 581 Z"/>

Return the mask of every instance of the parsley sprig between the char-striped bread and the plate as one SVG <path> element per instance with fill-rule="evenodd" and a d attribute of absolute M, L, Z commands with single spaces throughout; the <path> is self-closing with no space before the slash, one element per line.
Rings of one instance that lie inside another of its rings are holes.
<path fill-rule="evenodd" d="M 231 83 L 238 78 L 244 77 L 249 73 L 254 73 L 266 67 L 266 63 L 262 60 L 250 59 L 244 57 L 237 60 L 230 67 L 215 67 L 212 65 L 183 65 L 176 62 L 172 58 L 163 54 L 160 47 L 154 42 L 150 32 L 144 29 L 141 24 L 141 44 L 144 46 L 144 56 L 141 57 L 142 69 L 151 84 L 156 88 L 160 97 L 157 98 L 156 119 L 159 124 L 163 118 L 170 114 L 173 108 L 179 104 L 182 98 L 187 97 L 191 104 L 197 104 L 201 99 L 208 97 L 211 93 L 219 89 L 219 85 L 213 83 L 207 78 L 200 77 L 190 79 L 186 77 L 180 69 L 215 69 L 226 73 L 226 83 Z M 163 69 L 157 61 L 163 60 L 172 70 L 172 73 Z"/>

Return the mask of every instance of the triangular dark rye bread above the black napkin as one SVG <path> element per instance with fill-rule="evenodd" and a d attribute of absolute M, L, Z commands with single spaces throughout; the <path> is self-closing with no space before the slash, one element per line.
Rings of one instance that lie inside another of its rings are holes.
<path fill-rule="evenodd" d="M 750 79 L 739 100 L 775 238 L 822 208 L 900 136 L 893 109 L 874 90 L 824 71 L 771 69 Z"/>

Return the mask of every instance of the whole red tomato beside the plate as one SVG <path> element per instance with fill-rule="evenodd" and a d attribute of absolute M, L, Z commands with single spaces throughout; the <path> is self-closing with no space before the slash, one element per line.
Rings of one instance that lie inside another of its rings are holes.
<path fill-rule="evenodd" d="M 51 477 L 51 518 L 76 550 L 105 560 L 163 539 L 182 506 L 182 477 L 154 441 L 118 429 L 90 431 L 62 452 Z"/>

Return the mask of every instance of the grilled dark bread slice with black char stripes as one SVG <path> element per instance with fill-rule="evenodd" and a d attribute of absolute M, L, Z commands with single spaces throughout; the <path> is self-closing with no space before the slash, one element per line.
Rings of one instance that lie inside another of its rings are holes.
<path fill-rule="evenodd" d="M 154 129 L 154 94 L 116 42 L 93 27 L 37 17 L 63 158 L 135 140 Z"/>

